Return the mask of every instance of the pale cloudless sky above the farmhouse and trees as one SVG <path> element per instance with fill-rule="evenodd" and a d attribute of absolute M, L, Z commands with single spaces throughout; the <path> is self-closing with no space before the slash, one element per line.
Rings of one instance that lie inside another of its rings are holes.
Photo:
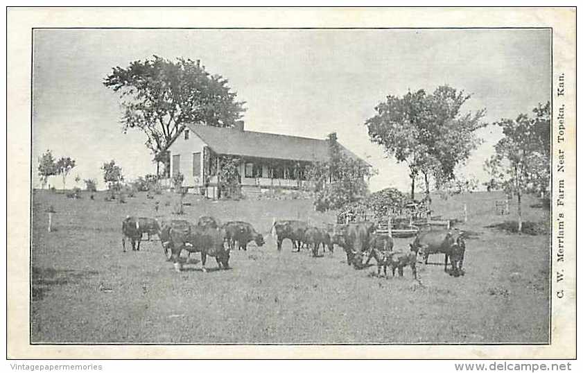
<path fill-rule="evenodd" d="M 143 133 L 121 131 L 119 97 L 103 85 L 113 67 L 134 60 L 201 60 L 245 101 L 245 129 L 338 141 L 372 164 L 377 191 L 410 189 L 408 168 L 369 141 L 365 121 L 388 95 L 450 85 L 472 94 L 462 113 L 486 109 L 494 123 L 550 101 L 548 30 L 35 30 L 33 167 L 47 149 L 76 159 L 67 180 L 94 178 L 111 159 L 126 180 L 155 173 Z M 456 173 L 488 180 L 485 159 L 500 128 L 478 130 L 484 142 Z M 60 177 L 49 183 L 61 186 Z M 82 183 L 79 186 L 83 186 Z"/>

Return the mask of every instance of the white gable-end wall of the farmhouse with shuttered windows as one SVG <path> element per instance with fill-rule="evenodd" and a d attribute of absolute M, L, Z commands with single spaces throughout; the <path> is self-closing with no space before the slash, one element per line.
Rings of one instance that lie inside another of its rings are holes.
<path fill-rule="evenodd" d="M 200 186 L 205 183 L 202 180 L 202 170 L 204 167 L 204 162 L 202 155 L 204 154 L 203 148 L 207 145 L 200 137 L 195 135 L 192 131 L 188 131 L 188 139 L 185 139 L 186 130 L 182 132 L 180 137 L 178 137 L 168 148 L 170 152 L 170 175 L 171 177 L 175 174 L 175 155 L 180 155 L 180 173 L 184 175 L 184 182 L 182 186 Z M 193 164 L 193 155 L 198 153 L 198 175 L 195 175 Z"/>

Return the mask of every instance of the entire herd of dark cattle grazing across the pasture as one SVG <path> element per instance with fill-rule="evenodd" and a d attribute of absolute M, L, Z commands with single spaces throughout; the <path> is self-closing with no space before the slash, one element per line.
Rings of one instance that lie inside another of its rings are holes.
<path fill-rule="evenodd" d="M 263 235 L 250 223 L 229 221 L 220 224 L 211 216 L 202 216 L 195 224 L 187 220 L 157 220 L 128 216 L 123 220 L 121 230 L 124 252 L 126 240 L 130 241 L 132 250 L 139 250 L 144 234 L 148 240 L 153 234 L 159 236 L 166 259 L 173 261 L 178 272 L 182 270 L 182 262 L 179 260 L 182 250 L 189 252 L 189 256 L 193 252 L 200 252 L 202 271 L 206 272 L 207 256 L 215 257 L 218 268 L 226 269 L 229 268 L 231 250 L 235 248 L 247 250 L 247 244 L 251 241 L 259 247 L 265 243 Z M 381 275 L 382 269 L 385 277 L 387 268 L 392 270 L 393 276 L 396 270 L 399 276 L 403 276 L 403 268 L 410 267 L 412 276 L 417 279 L 418 255 L 420 254 L 427 263 L 429 255 L 437 253 L 445 254 L 446 272 L 449 261 L 450 275 L 455 277 L 464 275 L 462 266 L 465 240 L 462 232 L 457 230 L 419 232 L 405 250 L 394 250 L 392 237 L 377 234 L 376 225 L 372 222 L 339 224 L 324 229 L 300 220 L 277 220 L 271 227 L 271 233 L 277 242 L 278 251 L 281 251 L 282 243 L 286 239 L 291 241 L 297 252 L 302 248 L 308 248 L 313 257 L 318 256 L 320 245 L 324 252 L 326 249 L 333 252 L 336 245 L 345 251 L 349 266 L 363 268 L 374 258 L 377 274 Z"/>

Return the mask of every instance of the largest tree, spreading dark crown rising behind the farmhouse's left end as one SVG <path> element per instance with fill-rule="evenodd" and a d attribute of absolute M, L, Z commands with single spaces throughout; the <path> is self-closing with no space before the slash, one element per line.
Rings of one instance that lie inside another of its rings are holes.
<path fill-rule="evenodd" d="M 103 85 L 121 98 L 123 132 L 137 128 L 146 134 L 146 146 L 167 166 L 166 146 L 186 123 L 232 127 L 241 118 L 244 102 L 220 75 L 211 75 L 200 60 L 175 62 L 154 55 L 114 67 Z M 168 167 L 166 167 L 168 169 Z"/>

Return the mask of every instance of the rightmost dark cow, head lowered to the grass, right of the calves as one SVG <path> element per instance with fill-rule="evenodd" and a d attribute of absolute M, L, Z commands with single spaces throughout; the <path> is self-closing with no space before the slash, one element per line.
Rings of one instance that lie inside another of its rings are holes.
<path fill-rule="evenodd" d="M 410 243 L 410 248 L 414 252 L 419 252 L 425 264 L 429 259 L 429 254 L 445 254 L 444 271 L 447 272 L 447 261 L 451 261 L 450 275 L 458 277 L 464 275 L 462 269 L 466 243 L 463 234 L 451 231 L 429 231 L 418 234 Z"/>

